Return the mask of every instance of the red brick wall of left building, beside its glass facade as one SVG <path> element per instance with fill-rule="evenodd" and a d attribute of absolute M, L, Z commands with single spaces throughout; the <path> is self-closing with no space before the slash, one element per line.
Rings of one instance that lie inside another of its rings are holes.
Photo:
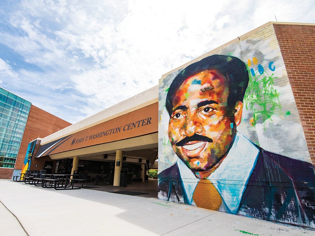
<path fill-rule="evenodd" d="M 32 140 L 36 138 L 44 138 L 54 132 L 57 132 L 58 129 L 63 129 L 69 125 L 71 125 L 71 123 L 31 105 L 30 114 L 27 119 L 20 150 L 15 163 L 15 169 L 22 169 L 27 146 Z M 33 167 L 33 169 L 31 170 L 43 169 L 46 160 L 51 161 L 49 157 L 39 158 L 38 160 L 32 159 L 31 167 Z M 38 165 L 36 168 L 35 164 Z M 12 173 L 13 169 L 0 168 L 0 178 L 10 179 L 12 177 Z"/>

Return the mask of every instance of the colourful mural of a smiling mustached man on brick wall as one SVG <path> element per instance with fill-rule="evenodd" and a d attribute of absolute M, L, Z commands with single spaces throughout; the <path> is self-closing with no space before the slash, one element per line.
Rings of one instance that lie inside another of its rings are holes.
<path fill-rule="evenodd" d="M 314 168 L 283 60 L 272 39 L 248 42 L 160 80 L 159 199 L 314 228 Z"/>

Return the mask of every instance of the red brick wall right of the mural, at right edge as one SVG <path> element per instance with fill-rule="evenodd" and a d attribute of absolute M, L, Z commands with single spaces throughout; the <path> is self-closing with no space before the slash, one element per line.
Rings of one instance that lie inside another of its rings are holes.
<path fill-rule="evenodd" d="M 315 165 L 315 25 L 274 24 L 274 29 Z"/>

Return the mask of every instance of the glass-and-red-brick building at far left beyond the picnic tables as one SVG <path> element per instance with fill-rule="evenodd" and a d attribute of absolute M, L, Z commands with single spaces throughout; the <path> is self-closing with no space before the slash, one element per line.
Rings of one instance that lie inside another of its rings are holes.
<path fill-rule="evenodd" d="M 0 88 L 0 178 L 20 173 L 28 144 L 71 125 Z M 37 168 L 43 169 L 42 165 Z"/>

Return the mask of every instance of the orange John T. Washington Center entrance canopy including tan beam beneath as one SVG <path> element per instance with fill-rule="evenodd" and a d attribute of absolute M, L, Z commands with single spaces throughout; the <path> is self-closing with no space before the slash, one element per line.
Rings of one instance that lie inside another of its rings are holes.
<path fill-rule="evenodd" d="M 36 157 L 52 159 L 156 147 L 158 103 L 89 127 L 41 146 Z"/>

